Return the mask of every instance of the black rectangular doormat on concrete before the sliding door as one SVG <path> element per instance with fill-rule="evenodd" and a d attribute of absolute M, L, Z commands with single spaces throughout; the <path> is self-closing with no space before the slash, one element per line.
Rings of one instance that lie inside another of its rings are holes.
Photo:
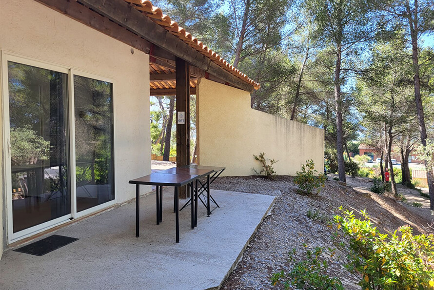
<path fill-rule="evenodd" d="M 28 244 L 14 251 L 19 251 L 21 253 L 26 253 L 26 254 L 36 255 L 36 256 L 43 256 L 46 253 L 49 253 L 50 251 L 59 249 L 77 240 L 78 240 L 77 238 L 71 238 L 63 235 L 53 234 L 45 239 Z"/>

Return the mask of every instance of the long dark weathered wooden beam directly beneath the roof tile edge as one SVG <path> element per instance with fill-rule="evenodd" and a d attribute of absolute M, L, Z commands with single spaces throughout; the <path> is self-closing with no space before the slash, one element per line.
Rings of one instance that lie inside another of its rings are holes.
<path fill-rule="evenodd" d="M 54 1 L 54 0 L 41 0 Z M 196 49 L 178 39 L 163 27 L 140 13 L 124 0 L 78 0 L 108 19 L 134 32 L 143 39 L 154 43 L 170 54 L 214 75 L 242 90 L 253 92 L 253 85 L 228 72 Z"/>

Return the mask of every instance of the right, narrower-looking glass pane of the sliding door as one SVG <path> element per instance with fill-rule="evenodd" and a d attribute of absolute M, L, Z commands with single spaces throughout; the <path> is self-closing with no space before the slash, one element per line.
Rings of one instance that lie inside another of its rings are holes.
<path fill-rule="evenodd" d="M 74 76 L 77 212 L 115 199 L 112 84 Z"/>

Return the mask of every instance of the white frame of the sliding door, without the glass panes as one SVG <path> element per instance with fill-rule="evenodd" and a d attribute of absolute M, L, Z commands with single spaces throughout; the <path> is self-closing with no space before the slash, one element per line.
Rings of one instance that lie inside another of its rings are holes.
<path fill-rule="evenodd" d="M 77 76 L 81 76 L 81 77 L 89 77 L 89 78 L 93 78 L 93 79 L 97 79 L 97 80 L 101 80 L 101 81 L 107 81 L 112 83 L 112 106 L 113 106 L 113 115 L 115 114 L 115 101 L 114 101 L 114 96 L 115 96 L 115 80 L 111 79 L 109 77 L 103 77 L 100 75 L 96 75 L 96 74 L 92 74 L 89 72 L 85 72 L 85 71 L 81 71 L 81 70 L 77 70 L 77 69 L 72 69 L 70 67 L 61 65 L 61 64 L 57 64 L 57 63 L 53 63 L 50 61 L 45 61 L 45 60 L 39 60 L 36 58 L 31 58 L 31 57 L 26 57 L 26 56 L 22 56 L 16 53 L 12 53 L 12 52 L 8 52 L 8 51 L 4 51 L 1 50 L 0 51 L 0 57 L 1 57 L 1 74 L 0 74 L 0 82 L 2 85 L 2 92 L 0 92 L 2 94 L 2 98 L 1 98 L 1 115 L 2 115 L 2 123 L 3 123 L 3 151 L 5 152 L 5 154 L 3 155 L 4 159 L 3 159 L 3 180 L 4 180 L 4 184 L 3 184 L 3 189 L 2 192 L 6 195 L 5 201 L 6 204 L 4 207 L 5 211 L 6 211 L 6 226 L 7 226 L 7 242 L 8 244 L 19 241 L 20 239 L 32 236 L 36 233 L 48 230 L 50 228 L 56 227 L 60 224 L 64 224 L 69 222 L 71 219 L 75 219 L 75 218 L 79 218 L 91 213 L 95 213 L 98 211 L 101 211 L 105 208 L 109 208 L 113 205 L 115 205 L 118 201 L 118 194 L 116 194 L 116 183 L 114 185 L 114 193 L 115 193 L 115 199 L 105 202 L 103 204 L 100 204 L 98 206 L 92 207 L 90 209 L 87 210 L 83 210 L 79 213 L 77 213 L 77 187 L 76 187 L 76 159 L 75 159 L 75 117 L 74 117 L 74 75 Z M 53 70 L 53 71 L 57 71 L 60 73 L 64 73 L 67 74 L 67 79 L 68 79 L 68 83 L 67 83 L 67 89 L 68 89 L 68 132 L 69 132 L 69 161 L 70 161 L 70 170 L 69 170 L 69 178 L 70 178 L 70 194 L 71 194 L 71 213 L 61 216 L 59 218 L 41 223 L 39 225 L 33 226 L 31 228 L 22 230 L 20 232 L 15 232 L 13 231 L 13 214 L 12 214 L 12 194 L 8 194 L 10 191 L 10 188 L 12 186 L 12 168 L 11 168 L 11 145 L 10 145 L 10 121 L 9 121 L 9 85 L 8 85 L 8 66 L 7 63 L 8 61 L 13 61 L 13 62 L 18 62 L 18 63 L 22 63 L 24 65 L 30 65 L 30 66 L 35 66 L 35 67 L 39 67 L 42 69 L 48 69 L 48 70 Z M 112 121 L 114 122 L 114 116 L 112 116 Z M 113 152 L 116 153 L 116 129 L 115 129 L 115 122 L 113 124 Z M 115 171 L 114 174 L 116 173 L 116 166 L 115 166 L 115 158 L 114 156 L 112 156 L 113 158 L 113 170 Z M 115 182 L 115 179 L 113 180 L 113 182 Z"/>

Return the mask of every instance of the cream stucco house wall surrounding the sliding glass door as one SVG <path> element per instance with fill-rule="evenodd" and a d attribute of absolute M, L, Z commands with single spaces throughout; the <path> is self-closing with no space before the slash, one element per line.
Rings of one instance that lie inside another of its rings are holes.
<path fill-rule="evenodd" d="M 135 186 L 128 180 L 151 172 L 149 56 L 137 50 L 133 55 L 130 46 L 34 0 L 0 1 L 0 49 L 114 80 L 115 193 L 119 203 L 133 198 Z M 2 180 L 3 175 L 0 186 Z M 6 209 L 3 188 L 1 193 L 0 218 Z M 0 231 L 0 253 L 5 232 Z"/>

